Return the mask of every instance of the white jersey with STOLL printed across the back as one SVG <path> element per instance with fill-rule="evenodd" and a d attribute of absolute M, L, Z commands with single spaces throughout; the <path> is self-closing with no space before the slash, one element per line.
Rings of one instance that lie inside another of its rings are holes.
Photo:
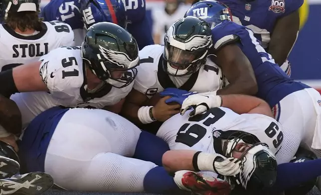
<path fill-rule="evenodd" d="M 1 71 L 38 59 L 61 46 L 74 46 L 71 27 L 61 21 L 43 22 L 42 30 L 35 35 L 22 36 L 6 24 L 0 25 Z"/>

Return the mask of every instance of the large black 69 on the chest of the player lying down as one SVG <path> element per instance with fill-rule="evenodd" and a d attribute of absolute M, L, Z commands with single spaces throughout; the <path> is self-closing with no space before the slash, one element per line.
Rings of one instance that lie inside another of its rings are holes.
<path fill-rule="evenodd" d="M 221 110 L 218 107 L 214 107 L 209 109 L 205 114 L 199 114 L 188 118 L 188 121 L 199 122 L 207 118 L 207 116 L 209 116 L 204 122 L 202 122 L 203 125 L 209 126 L 217 122 L 224 115 L 225 115 L 225 112 L 223 110 Z M 197 123 L 191 125 L 187 129 L 189 125 L 190 123 L 185 123 L 179 128 L 175 142 L 182 143 L 189 147 L 192 147 L 195 144 L 197 144 L 206 135 L 207 130 L 205 127 Z"/>

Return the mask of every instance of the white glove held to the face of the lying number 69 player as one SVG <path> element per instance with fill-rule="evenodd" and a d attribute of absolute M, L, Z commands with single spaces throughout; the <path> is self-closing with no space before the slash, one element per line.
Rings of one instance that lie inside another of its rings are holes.
<path fill-rule="evenodd" d="M 222 176 L 235 176 L 241 172 L 240 163 L 236 158 L 228 158 L 222 162 L 215 162 L 214 168 Z"/>

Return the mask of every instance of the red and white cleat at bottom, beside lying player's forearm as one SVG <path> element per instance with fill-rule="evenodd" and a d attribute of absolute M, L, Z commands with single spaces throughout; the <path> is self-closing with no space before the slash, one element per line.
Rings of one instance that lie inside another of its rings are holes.
<path fill-rule="evenodd" d="M 192 171 L 177 171 L 174 181 L 179 189 L 197 195 L 229 195 L 232 190 L 224 180 Z"/>

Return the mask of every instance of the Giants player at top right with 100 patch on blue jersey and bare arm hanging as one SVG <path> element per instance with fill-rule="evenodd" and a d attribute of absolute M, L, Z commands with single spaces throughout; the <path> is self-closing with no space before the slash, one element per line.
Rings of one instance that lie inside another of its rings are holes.
<path fill-rule="evenodd" d="M 304 0 L 219 1 L 230 8 L 233 22 L 251 29 L 276 64 L 290 76 L 291 67 L 287 57 L 298 37 L 299 8 Z M 206 16 L 207 9 L 200 13 Z"/>

